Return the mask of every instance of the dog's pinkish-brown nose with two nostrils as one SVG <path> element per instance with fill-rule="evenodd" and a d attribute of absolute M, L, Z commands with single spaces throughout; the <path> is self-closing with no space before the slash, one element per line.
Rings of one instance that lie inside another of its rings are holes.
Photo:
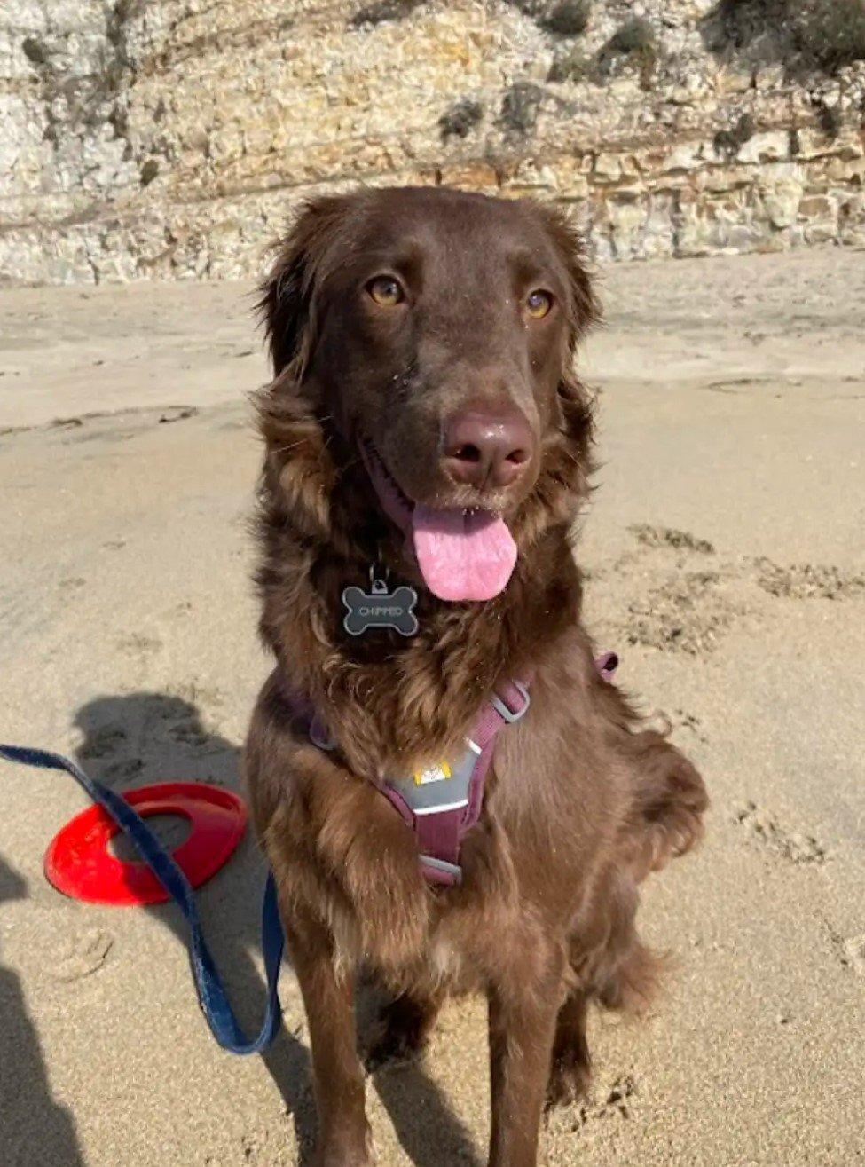
<path fill-rule="evenodd" d="M 444 436 L 447 473 L 473 487 L 510 487 L 531 459 L 531 429 L 516 406 L 462 410 L 448 418 Z"/>

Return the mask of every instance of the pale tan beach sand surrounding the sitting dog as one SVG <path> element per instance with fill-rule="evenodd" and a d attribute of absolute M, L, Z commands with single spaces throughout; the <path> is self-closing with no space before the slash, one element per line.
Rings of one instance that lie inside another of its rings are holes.
<path fill-rule="evenodd" d="M 236 787 L 268 668 L 249 292 L 0 293 L 0 739 L 69 752 L 117 789 Z M 865 257 L 616 267 L 604 298 L 583 361 L 602 460 L 587 617 L 712 811 L 704 847 L 646 887 L 644 931 L 677 957 L 669 992 L 643 1025 L 594 1019 L 592 1098 L 550 1116 L 542 1161 L 864 1162 Z M 4 1167 L 307 1162 L 291 969 L 267 1056 L 222 1054 L 172 909 L 46 882 L 49 839 L 85 804 L 74 783 L 2 764 L 0 789 Z M 247 839 L 200 895 L 250 1025 L 263 879 Z M 368 1097 L 379 1162 L 481 1162 L 481 1004 L 449 1006 L 428 1056 Z"/>

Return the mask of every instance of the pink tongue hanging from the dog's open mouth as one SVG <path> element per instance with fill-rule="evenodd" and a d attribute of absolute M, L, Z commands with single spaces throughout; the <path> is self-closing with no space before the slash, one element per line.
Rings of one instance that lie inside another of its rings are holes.
<path fill-rule="evenodd" d="M 440 600 L 491 600 L 504 589 L 517 545 L 501 518 L 418 503 L 412 529 L 424 582 Z"/>

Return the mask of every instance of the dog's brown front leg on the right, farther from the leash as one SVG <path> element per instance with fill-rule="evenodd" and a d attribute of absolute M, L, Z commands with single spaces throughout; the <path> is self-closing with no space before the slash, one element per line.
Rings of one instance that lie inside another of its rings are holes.
<path fill-rule="evenodd" d="M 489 1167 L 537 1162 L 556 1018 L 564 997 L 564 960 L 549 953 L 545 963 L 543 976 L 511 976 L 489 992 Z"/>

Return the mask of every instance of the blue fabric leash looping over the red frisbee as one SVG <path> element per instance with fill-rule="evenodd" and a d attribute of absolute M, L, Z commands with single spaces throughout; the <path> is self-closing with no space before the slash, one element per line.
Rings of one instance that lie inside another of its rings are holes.
<path fill-rule="evenodd" d="M 116 795 L 113 790 L 104 787 L 100 782 L 89 778 L 75 762 L 70 762 L 68 757 L 63 757 L 60 754 L 51 754 L 44 749 L 28 749 L 22 746 L 0 745 L 0 757 L 5 757 L 9 762 L 21 762 L 23 766 L 35 766 L 42 770 L 65 770 L 67 774 L 72 775 L 78 785 L 92 801 L 107 811 L 117 825 L 125 831 L 126 836 L 134 843 L 144 861 L 183 913 L 186 922 L 189 925 L 189 953 L 191 957 L 193 976 L 198 993 L 198 1004 L 210 1026 L 210 1032 L 222 1048 L 228 1049 L 232 1054 L 260 1054 L 273 1041 L 281 1021 L 277 984 L 279 981 L 279 967 L 282 960 L 285 941 L 282 937 L 282 924 L 279 918 L 279 908 L 277 906 L 277 887 L 273 882 L 273 873 L 267 873 L 267 883 L 261 903 L 261 950 L 264 952 L 264 967 L 267 977 L 267 1006 L 260 1033 L 257 1037 L 250 1040 L 237 1023 L 237 1018 L 231 1009 L 222 980 L 216 971 L 214 958 L 204 943 L 198 911 L 195 907 L 195 896 L 189 886 L 189 880 L 141 816 L 124 798 Z"/>

